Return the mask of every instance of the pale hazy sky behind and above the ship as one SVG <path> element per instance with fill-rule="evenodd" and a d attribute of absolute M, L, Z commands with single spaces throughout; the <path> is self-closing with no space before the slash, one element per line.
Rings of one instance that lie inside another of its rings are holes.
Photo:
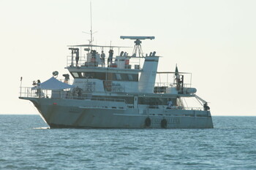
<path fill-rule="evenodd" d="M 92 0 L 94 42 L 128 45 L 121 35 L 155 36 L 159 71 L 192 72 L 212 115 L 255 115 L 256 1 Z M 23 86 L 67 73 L 67 45 L 87 44 L 90 1 L 0 0 L 1 114 L 37 113 L 18 99 Z M 132 50 L 132 49 L 131 49 Z M 132 53 L 132 51 L 130 52 Z"/>

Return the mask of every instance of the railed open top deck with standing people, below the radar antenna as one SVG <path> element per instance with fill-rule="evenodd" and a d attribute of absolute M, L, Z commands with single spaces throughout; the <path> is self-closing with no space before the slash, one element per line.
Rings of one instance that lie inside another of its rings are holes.
<path fill-rule="evenodd" d="M 86 69 L 86 70 L 116 70 L 123 72 L 142 72 L 143 62 L 146 58 L 152 56 L 146 55 L 135 56 L 128 55 L 127 52 L 121 51 L 114 53 L 114 50 L 109 50 L 108 55 L 105 54 L 104 50 L 90 50 L 83 51 L 83 48 L 72 47 L 69 48 L 71 55 L 67 56 L 67 66 L 66 69 Z M 115 55 L 114 55 L 115 54 Z M 154 55 L 154 57 L 156 57 Z M 96 71 L 97 72 L 97 71 Z"/>

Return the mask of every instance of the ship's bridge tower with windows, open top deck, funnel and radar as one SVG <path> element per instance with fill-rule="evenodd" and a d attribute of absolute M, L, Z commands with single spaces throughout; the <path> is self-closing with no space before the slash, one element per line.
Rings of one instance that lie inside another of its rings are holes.
<path fill-rule="evenodd" d="M 140 45 L 140 40 L 154 39 L 154 36 L 121 36 L 120 38 L 135 39 L 132 55 L 129 55 L 126 50 L 121 50 L 129 47 L 69 46 L 71 55 L 67 56 L 66 69 L 75 79 L 74 85 L 82 86 L 90 80 L 97 84 L 95 88 L 102 89 L 102 92 L 110 91 L 109 87 L 112 88 L 115 85 L 123 87 L 118 89 L 125 88 L 126 92 L 154 92 L 159 56 L 154 51 L 144 56 Z M 117 53 L 116 57 L 114 53 Z"/>

